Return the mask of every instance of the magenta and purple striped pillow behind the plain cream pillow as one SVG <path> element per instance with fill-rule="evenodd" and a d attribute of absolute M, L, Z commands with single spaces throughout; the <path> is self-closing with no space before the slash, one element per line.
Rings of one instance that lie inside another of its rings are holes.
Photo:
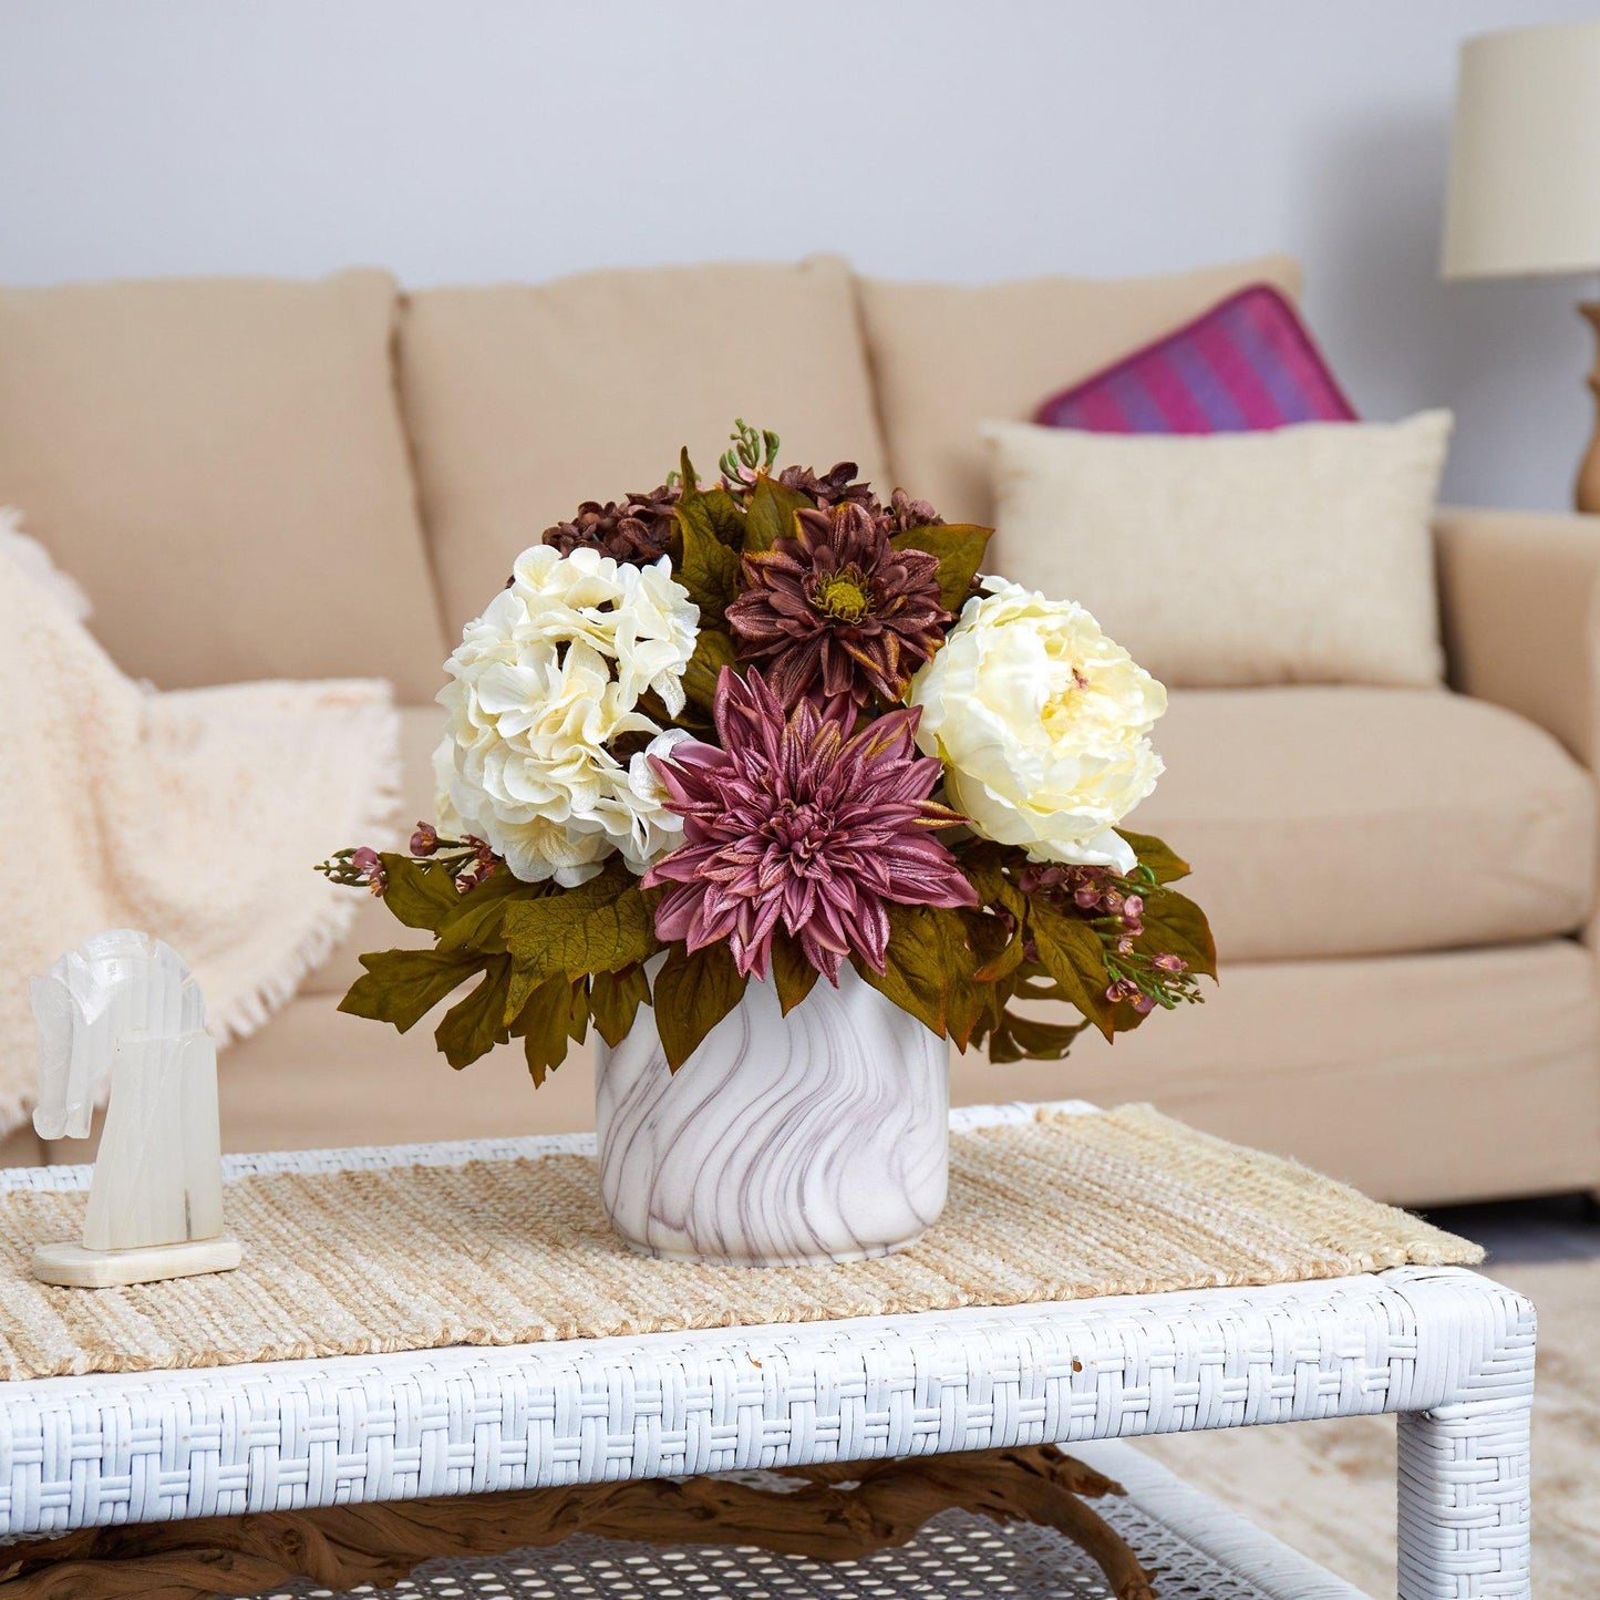
<path fill-rule="evenodd" d="M 1248 434 L 1357 414 L 1290 301 L 1253 283 L 1051 395 L 1034 421 L 1091 434 Z"/>

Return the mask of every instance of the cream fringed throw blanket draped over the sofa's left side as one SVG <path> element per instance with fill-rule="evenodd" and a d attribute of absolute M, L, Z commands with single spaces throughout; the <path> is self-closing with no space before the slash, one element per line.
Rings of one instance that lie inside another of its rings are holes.
<path fill-rule="evenodd" d="M 219 1040 L 250 1034 L 349 930 L 357 896 L 312 867 L 379 842 L 398 784 L 387 685 L 157 693 L 117 670 L 6 531 L 0 1136 L 34 1102 L 29 976 L 93 933 L 139 928 L 189 962 Z"/>

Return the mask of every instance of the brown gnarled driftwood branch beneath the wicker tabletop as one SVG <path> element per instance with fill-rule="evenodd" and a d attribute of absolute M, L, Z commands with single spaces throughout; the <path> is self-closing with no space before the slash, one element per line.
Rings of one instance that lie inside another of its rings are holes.
<path fill-rule="evenodd" d="M 782 1475 L 798 1486 L 646 1478 L 85 1528 L 0 1549 L 0 1600 L 210 1600 L 296 1578 L 330 1589 L 392 1584 L 434 1557 L 501 1555 L 573 1533 L 757 1544 L 838 1562 L 906 1544 L 952 1507 L 1056 1528 L 1093 1557 L 1117 1600 L 1155 1595 L 1128 1544 L 1086 1504 L 1122 1486 L 1053 1445 Z"/>

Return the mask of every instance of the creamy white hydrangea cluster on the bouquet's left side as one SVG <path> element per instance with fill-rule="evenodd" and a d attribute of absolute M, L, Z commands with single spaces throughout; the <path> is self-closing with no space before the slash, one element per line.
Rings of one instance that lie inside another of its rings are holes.
<path fill-rule="evenodd" d="M 645 872 L 682 830 L 648 755 L 683 734 L 638 701 L 653 691 L 669 714 L 683 709 L 698 632 L 666 558 L 640 568 L 597 550 L 525 550 L 445 664 L 440 830 L 486 838 L 528 882 L 579 883 L 613 851 Z M 624 762 L 610 749 L 624 734 L 650 744 Z"/>

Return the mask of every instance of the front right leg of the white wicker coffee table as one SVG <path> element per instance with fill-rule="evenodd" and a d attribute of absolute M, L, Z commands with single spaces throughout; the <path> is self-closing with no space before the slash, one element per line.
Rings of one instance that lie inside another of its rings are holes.
<path fill-rule="evenodd" d="M 1533 1400 L 1400 1418 L 1400 1600 L 1528 1600 Z"/>

